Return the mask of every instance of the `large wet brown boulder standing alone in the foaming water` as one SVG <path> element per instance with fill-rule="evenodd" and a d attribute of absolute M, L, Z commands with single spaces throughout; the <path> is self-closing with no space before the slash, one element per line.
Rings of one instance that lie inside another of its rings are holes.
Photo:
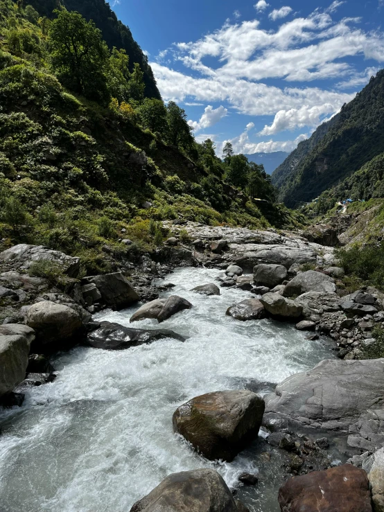
<path fill-rule="evenodd" d="M 256 438 L 264 400 L 252 391 L 217 391 L 197 396 L 173 414 L 173 429 L 207 459 L 232 461 Z"/>

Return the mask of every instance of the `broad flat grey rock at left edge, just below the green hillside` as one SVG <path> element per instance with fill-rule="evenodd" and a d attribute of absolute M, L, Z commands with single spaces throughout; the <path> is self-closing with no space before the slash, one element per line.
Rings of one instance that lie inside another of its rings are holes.
<path fill-rule="evenodd" d="M 80 258 L 67 256 L 63 252 L 53 251 L 42 245 L 14 245 L 0 253 L 0 261 L 12 263 L 15 270 L 28 270 L 36 261 L 51 261 L 69 277 L 78 276 L 80 270 Z"/>

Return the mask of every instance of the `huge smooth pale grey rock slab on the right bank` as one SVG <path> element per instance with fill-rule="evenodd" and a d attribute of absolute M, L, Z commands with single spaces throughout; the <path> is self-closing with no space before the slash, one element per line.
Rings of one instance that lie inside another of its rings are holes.
<path fill-rule="evenodd" d="M 383 390 L 384 359 L 324 360 L 265 396 L 265 418 L 267 423 L 268 418 L 285 418 L 346 433 L 367 409 L 383 410 Z M 355 428 L 353 435 L 363 439 L 363 433 Z"/>

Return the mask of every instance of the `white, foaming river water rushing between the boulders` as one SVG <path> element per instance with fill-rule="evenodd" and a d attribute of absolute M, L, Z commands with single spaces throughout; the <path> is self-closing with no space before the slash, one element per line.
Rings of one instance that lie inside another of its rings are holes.
<path fill-rule="evenodd" d="M 203 467 L 216 468 L 229 486 L 243 471 L 260 469 L 261 484 L 239 495 L 254 512 L 279 510 L 281 461 L 265 462 L 257 443 L 231 464 L 206 461 L 173 434 L 173 412 L 193 396 L 254 379 L 281 382 L 333 355 L 329 344 L 308 342 L 291 325 L 226 317 L 247 292 L 189 292 L 218 274 L 188 268 L 169 276 L 176 287 L 164 295 L 180 294 L 194 307 L 162 328 L 186 335 L 185 343 L 166 339 L 116 352 L 74 348 L 53 361 L 55 382 L 30 389 L 20 409 L 0 412 L 1 512 L 128 512 L 166 475 Z M 136 309 L 97 318 L 128 325 Z"/>

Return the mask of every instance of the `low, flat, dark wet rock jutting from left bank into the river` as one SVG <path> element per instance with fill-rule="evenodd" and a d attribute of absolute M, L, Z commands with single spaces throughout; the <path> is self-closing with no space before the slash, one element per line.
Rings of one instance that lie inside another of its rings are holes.
<path fill-rule="evenodd" d="M 133 329 L 120 324 L 102 321 L 87 335 L 87 344 L 105 350 L 124 350 L 131 346 L 155 342 L 158 339 L 173 338 L 184 342 L 185 338 L 168 329 Z"/>

